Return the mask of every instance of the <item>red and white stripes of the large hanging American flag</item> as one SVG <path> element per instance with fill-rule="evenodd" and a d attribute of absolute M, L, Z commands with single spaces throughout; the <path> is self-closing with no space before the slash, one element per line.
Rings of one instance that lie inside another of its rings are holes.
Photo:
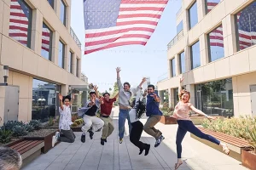
<path fill-rule="evenodd" d="M 85 30 L 84 54 L 124 45 L 145 45 L 167 3 L 168 0 L 122 0 L 116 26 Z"/>

